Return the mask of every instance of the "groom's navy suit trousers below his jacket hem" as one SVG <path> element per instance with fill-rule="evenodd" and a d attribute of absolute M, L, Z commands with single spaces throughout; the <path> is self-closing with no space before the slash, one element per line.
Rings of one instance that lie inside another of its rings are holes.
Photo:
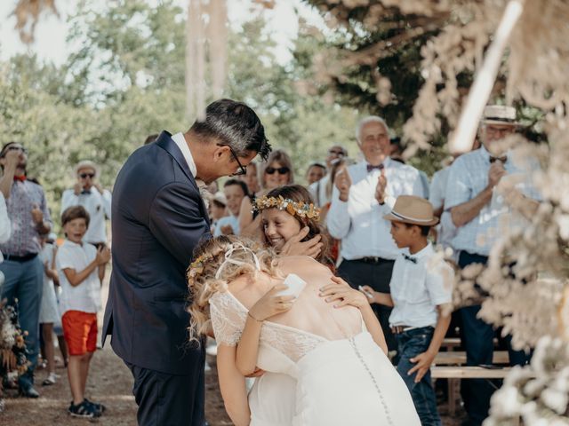
<path fill-rule="evenodd" d="M 204 370 L 193 377 L 125 364 L 134 377 L 139 426 L 204 426 Z"/>

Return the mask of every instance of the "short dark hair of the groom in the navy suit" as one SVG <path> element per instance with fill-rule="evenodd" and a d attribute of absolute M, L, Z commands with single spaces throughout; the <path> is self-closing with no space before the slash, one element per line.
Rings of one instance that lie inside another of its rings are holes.
<path fill-rule="evenodd" d="M 240 157 L 254 151 L 267 160 L 271 150 L 257 114 L 243 102 L 231 99 L 212 102 L 205 109 L 205 120 L 196 120 L 189 130 L 201 138 L 220 139 L 220 145 L 230 146 Z"/>

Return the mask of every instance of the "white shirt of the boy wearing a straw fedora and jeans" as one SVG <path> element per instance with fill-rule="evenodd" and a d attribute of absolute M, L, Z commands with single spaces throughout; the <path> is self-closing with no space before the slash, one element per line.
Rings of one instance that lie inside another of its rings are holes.
<path fill-rule="evenodd" d="M 389 284 L 394 304 L 389 325 L 434 327 L 437 305 L 453 301 L 453 276 L 453 268 L 442 258 L 435 257 L 430 244 L 414 255 L 408 248 L 401 250 Z"/>

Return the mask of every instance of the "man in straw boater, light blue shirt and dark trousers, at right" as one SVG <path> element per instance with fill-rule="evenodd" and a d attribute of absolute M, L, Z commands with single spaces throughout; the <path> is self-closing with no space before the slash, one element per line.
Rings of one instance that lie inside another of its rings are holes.
<path fill-rule="evenodd" d="M 500 238 L 511 212 L 509 203 L 498 191 L 494 191 L 502 179 L 514 177 L 518 183 L 511 193 L 523 197 L 528 206 L 535 208 L 540 194 L 531 183 L 532 159 L 525 164 L 514 161 L 504 150 L 502 139 L 517 129 L 516 110 L 511 106 L 486 106 L 480 125 L 482 146 L 463 154 L 449 172 L 446 186 L 445 210 L 450 211 L 457 227 L 452 240 L 458 252 L 459 266 L 486 264 L 494 242 Z M 520 178 L 521 177 L 521 178 Z M 467 352 L 467 365 L 492 364 L 494 329 L 491 324 L 477 318 L 480 305 L 461 308 L 462 343 Z M 527 357 L 521 351 L 509 351 L 510 364 L 525 364 Z M 488 415 L 493 387 L 481 379 L 464 381 L 462 398 L 469 424 L 481 424 Z"/>

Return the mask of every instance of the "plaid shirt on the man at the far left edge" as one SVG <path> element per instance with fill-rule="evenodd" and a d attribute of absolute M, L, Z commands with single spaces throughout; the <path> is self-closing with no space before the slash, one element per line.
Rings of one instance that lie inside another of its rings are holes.
<path fill-rule="evenodd" d="M 15 181 L 10 190 L 10 197 L 6 200 L 8 217 L 12 221 L 12 235 L 10 240 L 0 245 L 4 256 L 25 256 L 42 251 L 39 233 L 32 219 L 34 205 L 44 213 L 44 222 L 52 225 L 42 187 L 28 180 Z"/>

